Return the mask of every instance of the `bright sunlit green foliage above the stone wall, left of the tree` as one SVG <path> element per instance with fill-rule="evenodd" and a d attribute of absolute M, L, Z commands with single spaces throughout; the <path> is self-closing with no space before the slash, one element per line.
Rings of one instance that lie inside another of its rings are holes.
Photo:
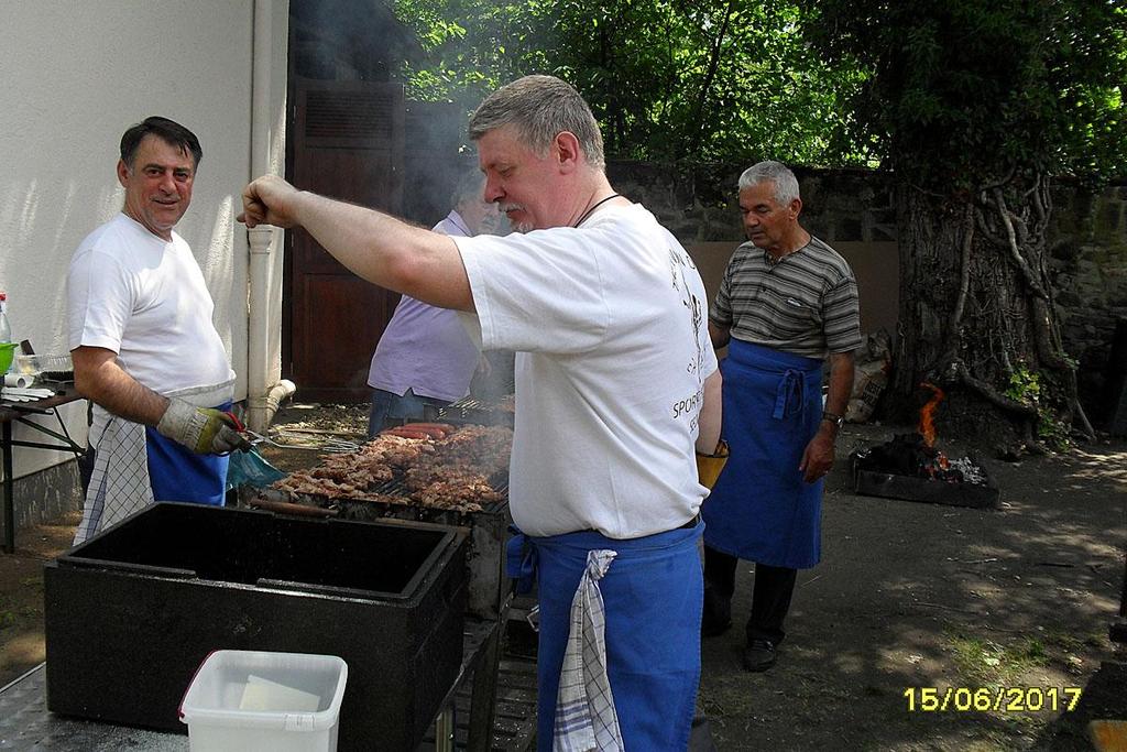
<path fill-rule="evenodd" d="M 398 0 L 397 10 L 432 55 L 403 69 L 410 96 L 469 110 L 520 76 L 557 74 L 591 104 L 612 158 L 836 161 L 827 149 L 844 142 L 829 134 L 859 81 L 814 54 L 792 3 Z"/>

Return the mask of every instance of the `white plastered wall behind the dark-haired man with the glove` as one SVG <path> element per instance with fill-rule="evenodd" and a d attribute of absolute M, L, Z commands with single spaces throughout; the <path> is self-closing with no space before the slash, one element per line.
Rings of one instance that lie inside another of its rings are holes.
<path fill-rule="evenodd" d="M 284 123 L 287 3 L 257 5 L 279 21 L 270 60 L 283 68 L 273 77 L 281 91 L 270 101 L 272 120 Z M 251 169 L 255 12 L 254 0 L 0 2 L 0 289 L 16 339 L 41 353 L 68 351 L 70 257 L 121 210 L 122 132 L 163 115 L 203 147 L 177 231 L 203 268 L 239 377 L 237 399 L 246 397 L 247 240 L 234 216 Z M 85 436 L 85 402 L 69 408 L 68 424 Z M 17 453 L 16 475 L 63 457 Z"/>

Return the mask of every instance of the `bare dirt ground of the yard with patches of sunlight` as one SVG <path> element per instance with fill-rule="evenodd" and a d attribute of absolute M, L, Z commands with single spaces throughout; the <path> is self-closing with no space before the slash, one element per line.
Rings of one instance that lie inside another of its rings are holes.
<path fill-rule="evenodd" d="M 290 405 L 276 435 L 317 444 L 325 432 L 358 433 L 363 419 L 362 407 Z M 800 573 L 779 662 L 761 674 L 739 663 L 753 582 L 742 566 L 736 627 L 702 643 L 700 707 L 716 747 L 1092 749 L 1088 718 L 1127 718 L 1127 656 L 1108 638 L 1124 587 L 1127 442 L 1010 462 L 941 436 L 949 457 L 984 461 L 1001 487 L 993 510 L 852 493 L 848 454 L 904 431 L 845 426 L 823 561 Z M 264 454 L 283 469 L 317 459 Z M 0 687 L 43 660 L 42 564 L 77 522 L 20 530 L 17 552 L 0 555 Z M 988 709 L 975 709 L 978 688 Z M 1082 699 L 1068 713 L 1072 688 Z M 944 709 L 928 709 L 944 696 Z"/>

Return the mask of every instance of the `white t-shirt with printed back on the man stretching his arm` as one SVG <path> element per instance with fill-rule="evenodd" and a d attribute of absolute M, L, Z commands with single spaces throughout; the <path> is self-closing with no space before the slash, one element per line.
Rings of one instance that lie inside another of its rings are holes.
<path fill-rule="evenodd" d="M 486 350 L 517 351 L 517 527 L 625 539 L 689 521 L 707 493 L 693 450 L 717 362 L 681 244 L 639 204 L 579 229 L 454 241 L 477 308 L 468 326 Z"/>

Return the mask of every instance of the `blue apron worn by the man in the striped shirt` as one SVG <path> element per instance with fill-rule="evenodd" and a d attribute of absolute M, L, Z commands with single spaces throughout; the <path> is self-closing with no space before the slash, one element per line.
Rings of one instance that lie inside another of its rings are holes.
<path fill-rule="evenodd" d="M 822 361 L 733 339 L 720 368 L 731 457 L 701 506 L 704 545 L 767 566 L 813 567 L 824 481 L 804 481 L 798 466 L 822 419 Z"/>

